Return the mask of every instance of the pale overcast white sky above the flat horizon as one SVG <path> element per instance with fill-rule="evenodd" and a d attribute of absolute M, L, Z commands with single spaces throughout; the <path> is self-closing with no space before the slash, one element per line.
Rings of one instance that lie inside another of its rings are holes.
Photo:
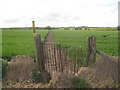
<path fill-rule="evenodd" d="M 0 27 L 118 25 L 119 0 L 0 0 Z"/>

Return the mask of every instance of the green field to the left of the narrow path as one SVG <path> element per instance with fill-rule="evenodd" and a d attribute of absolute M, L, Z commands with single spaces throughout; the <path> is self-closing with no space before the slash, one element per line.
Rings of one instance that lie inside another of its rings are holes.
<path fill-rule="evenodd" d="M 48 33 L 47 30 L 37 30 L 42 40 Z M 2 30 L 2 56 L 10 58 L 14 55 L 34 56 L 34 41 L 32 30 Z"/>

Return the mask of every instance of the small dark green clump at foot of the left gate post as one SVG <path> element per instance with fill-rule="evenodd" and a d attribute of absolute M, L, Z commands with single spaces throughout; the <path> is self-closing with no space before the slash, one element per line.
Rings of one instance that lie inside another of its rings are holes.
<path fill-rule="evenodd" d="M 35 83 L 41 82 L 42 81 L 41 73 L 38 72 L 37 70 L 32 70 L 32 79 L 34 80 Z"/>

